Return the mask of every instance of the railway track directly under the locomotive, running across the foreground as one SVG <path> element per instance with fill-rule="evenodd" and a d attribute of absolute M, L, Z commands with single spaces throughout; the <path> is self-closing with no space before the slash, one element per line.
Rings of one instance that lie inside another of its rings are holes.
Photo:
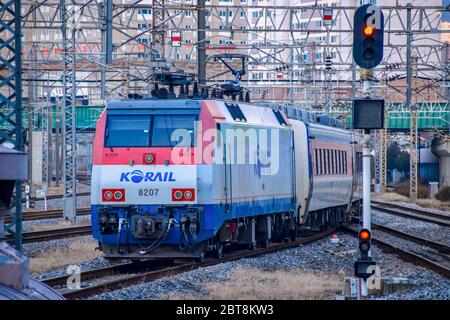
<path fill-rule="evenodd" d="M 266 248 L 258 248 L 254 251 L 243 250 L 243 251 L 239 251 L 239 252 L 232 252 L 230 254 L 225 255 L 223 258 L 220 258 L 220 259 L 206 259 L 205 261 L 202 261 L 202 262 L 187 262 L 187 263 L 176 264 L 176 265 L 172 264 L 170 266 L 166 266 L 166 267 L 162 267 L 162 268 L 160 265 L 158 265 L 156 267 L 156 270 L 155 270 L 155 267 L 152 265 L 152 263 L 156 263 L 156 261 L 151 262 L 149 260 L 141 262 L 142 263 L 141 265 L 137 265 L 136 263 L 125 263 L 125 264 L 120 264 L 120 265 L 103 267 L 100 269 L 88 270 L 88 271 L 84 271 L 80 274 L 82 282 L 86 281 L 86 280 L 98 279 L 98 277 L 104 277 L 105 275 L 107 276 L 107 275 L 111 275 L 111 274 L 118 273 L 118 272 L 120 273 L 121 270 L 125 270 L 128 272 L 130 270 L 130 268 L 131 269 L 136 268 L 136 267 L 150 268 L 150 270 L 148 270 L 148 271 L 139 272 L 139 273 L 131 274 L 131 275 L 125 275 L 123 277 L 118 277 L 116 279 L 109 279 L 109 280 L 106 280 L 101 283 L 83 287 L 81 289 L 63 291 L 61 293 L 67 299 L 86 298 L 86 297 L 93 296 L 93 295 L 96 295 L 96 294 L 99 294 L 99 293 L 102 293 L 105 291 L 113 291 L 113 290 L 117 290 L 117 289 L 124 288 L 127 286 L 131 286 L 134 284 L 153 281 L 153 280 L 159 279 L 164 276 L 171 276 L 171 275 L 183 273 L 186 271 L 194 270 L 194 269 L 197 269 L 200 267 L 213 266 L 213 265 L 224 263 L 224 262 L 239 260 L 242 258 L 256 257 L 259 255 L 288 249 L 291 247 L 298 246 L 300 244 L 306 244 L 306 243 L 310 243 L 313 241 L 317 241 L 319 239 L 322 239 L 324 237 L 331 235 L 335 231 L 336 230 L 333 229 L 328 232 L 315 234 L 313 236 L 305 237 L 305 238 L 302 238 L 302 239 L 299 239 L 296 241 L 291 241 L 291 242 L 287 242 L 287 243 L 277 243 L 277 244 L 273 244 Z M 46 283 L 47 285 L 54 287 L 56 290 L 58 290 L 58 289 L 60 289 L 58 287 L 64 285 L 67 282 L 67 279 L 68 279 L 68 276 L 62 276 L 62 277 L 44 280 L 44 283 Z"/>

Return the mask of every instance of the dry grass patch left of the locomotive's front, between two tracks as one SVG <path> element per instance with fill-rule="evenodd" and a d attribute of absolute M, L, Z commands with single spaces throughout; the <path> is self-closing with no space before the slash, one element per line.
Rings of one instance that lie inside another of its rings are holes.
<path fill-rule="evenodd" d="M 83 238 L 73 240 L 67 247 L 53 248 L 51 251 L 40 251 L 30 258 L 31 273 L 40 274 L 62 266 L 100 257 L 102 253 L 96 251 L 96 247 L 96 241 Z"/>

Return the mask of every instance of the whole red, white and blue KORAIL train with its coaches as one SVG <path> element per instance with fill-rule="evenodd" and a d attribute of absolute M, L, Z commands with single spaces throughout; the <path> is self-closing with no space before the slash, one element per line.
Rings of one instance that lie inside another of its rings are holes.
<path fill-rule="evenodd" d="M 334 119 L 161 96 L 110 100 L 97 122 L 91 218 L 106 258 L 221 257 L 359 213 L 361 136 Z"/>

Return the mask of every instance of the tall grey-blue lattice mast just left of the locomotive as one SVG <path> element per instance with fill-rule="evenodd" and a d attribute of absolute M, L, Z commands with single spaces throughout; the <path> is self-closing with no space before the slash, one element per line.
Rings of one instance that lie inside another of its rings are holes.
<path fill-rule="evenodd" d="M 64 218 L 76 220 L 76 47 L 77 3 L 75 0 L 61 0 L 61 20 L 63 39 L 63 184 Z M 69 32 L 68 32 L 69 31 Z M 69 35 L 68 35 L 69 33 Z"/>

